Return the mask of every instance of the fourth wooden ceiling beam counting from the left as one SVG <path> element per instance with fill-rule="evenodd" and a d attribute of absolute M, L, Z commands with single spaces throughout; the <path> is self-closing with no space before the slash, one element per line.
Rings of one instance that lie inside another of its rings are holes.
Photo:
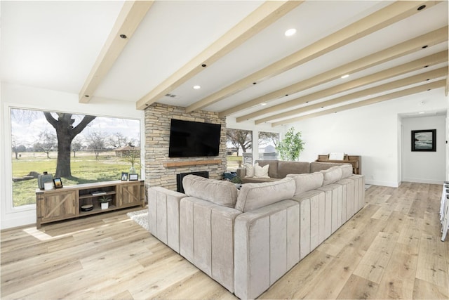
<path fill-rule="evenodd" d="M 333 70 L 329 70 L 314 77 L 291 84 L 290 86 L 286 86 L 285 88 L 279 89 L 272 93 L 267 93 L 266 95 L 249 100 L 240 105 L 230 107 L 229 109 L 220 112 L 219 116 L 227 117 L 236 112 L 241 112 L 242 110 L 246 110 L 250 107 L 260 105 L 261 103 L 267 103 L 269 100 L 281 98 L 285 95 L 293 95 L 293 93 L 311 89 L 314 86 L 319 86 L 320 84 L 325 84 L 329 81 L 338 79 L 342 76 L 342 74 L 354 74 L 361 70 L 366 70 L 369 67 L 373 67 L 373 65 L 385 63 L 389 60 L 420 51 L 423 46 L 427 46 L 427 48 L 429 48 L 431 46 L 443 43 L 444 41 L 448 41 L 448 26 L 441 27 L 438 30 L 428 32 L 427 34 L 422 34 L 414 39 L 404 41 L 403 43 L 391 46 L 390 48 L 384 49 L 377 53 L 354 60 L 354 62 L 344 64 L 340 67 L 335 67 Z"/>

